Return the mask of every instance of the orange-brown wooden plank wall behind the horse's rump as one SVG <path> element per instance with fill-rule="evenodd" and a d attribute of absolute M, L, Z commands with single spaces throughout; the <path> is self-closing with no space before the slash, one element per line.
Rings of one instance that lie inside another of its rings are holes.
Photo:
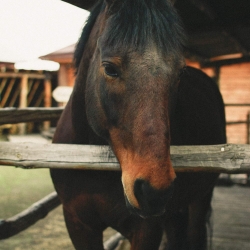
<path fill-rule="evenodd" d="M 199 68 L 198 64 L 187 63 Z M 202 69 L 209 76 L 214 76 L 213 69 Z M 220 68 L 219 87 L 225 104 L 250 103 L 250 63 L 223 66 Z M 226 106 L 227 122 L 244 121 L 250 112 L 250 106 Z M 228 143 L 247 143 L 247 125 L 227 125 Z"/>

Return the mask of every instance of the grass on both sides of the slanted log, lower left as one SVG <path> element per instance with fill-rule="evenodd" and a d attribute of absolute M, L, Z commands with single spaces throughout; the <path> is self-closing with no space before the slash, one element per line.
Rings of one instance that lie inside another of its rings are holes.
<path fill-rule="evenodd" d="M 0 218 L 7 219 L 54 191 L 47 169 L 0 166 Z M 20 234 L 0 242 L 1 250 L 73 249 L 61 206 Z"/>

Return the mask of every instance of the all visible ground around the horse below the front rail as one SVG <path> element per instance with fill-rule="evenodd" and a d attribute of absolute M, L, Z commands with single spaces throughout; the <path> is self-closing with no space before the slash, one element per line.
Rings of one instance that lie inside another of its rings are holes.
<path fill-rule="evenodd" d="M 49 171 L 23 170 L 0 166 L 0 219 L 23 211 L 32 203 L 54 191 Z M 213 198 L 213 250 L 250 249 L 250 188 L 216 187 Z M 104 241 L 115 234 L 104 233 Z M 22 233 L 0 241 L 0 250 L 73 250 L 62 208 L 59 206 L 45 219 Z M 119 250 L 128 250 L 127 241 Z"/>

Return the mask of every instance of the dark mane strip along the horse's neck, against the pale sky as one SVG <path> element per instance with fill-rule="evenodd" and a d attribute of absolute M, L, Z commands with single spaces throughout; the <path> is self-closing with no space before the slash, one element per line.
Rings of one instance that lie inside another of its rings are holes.
<path fill-rule="evenodd" d="M 105 5 L 103 4 L 103 0 L 99 0 L 92 8 L 89 17 L 86 20 L 86 23 L 82 30 L 82 34 L 80 36 L 80 39 L 78 40 L 78 43 L 76 45 L 75 52 L 74 52 L 74 65 L 75 65 L 76 71 L 80 65 L 85 45 L 88 41 L 90 32 L 95 24 L 96 18 L 98 17 L 98 15 L 100 14 L 100 12 L 102 11 L 104 7 Z"/>

